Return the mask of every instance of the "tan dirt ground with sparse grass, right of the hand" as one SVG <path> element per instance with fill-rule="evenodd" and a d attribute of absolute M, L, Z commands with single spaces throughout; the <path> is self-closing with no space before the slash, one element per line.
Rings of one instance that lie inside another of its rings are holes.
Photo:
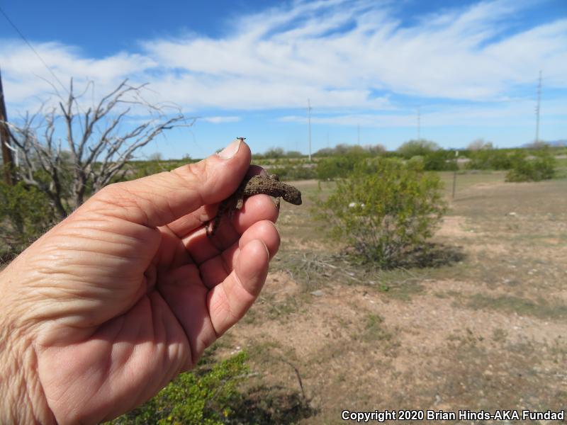
<path fill-rule="evenodd" d="M 249 353 L 247 387 L 263 412 L 251 421 L 566 408 L 567 180 L 459 175 L 451 200 L 452 174 L 443 179 L 442 261 L 388 272 L 337 256 L 310 217 L 318 184 L 298 182 L 306 202 L 282 205 L 266 287 L 216 350 Z"/>

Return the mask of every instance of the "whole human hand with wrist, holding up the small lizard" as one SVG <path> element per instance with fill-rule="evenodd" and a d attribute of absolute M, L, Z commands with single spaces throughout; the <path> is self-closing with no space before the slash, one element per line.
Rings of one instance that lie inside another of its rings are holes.
<path fill-rule="evenodd" d="M 248 198 L 236 140 L 196 164 L 103 188 L 0 274 L 0 422 L 96 423 L 189 370 L 262 289 L 277 210 Z"/>

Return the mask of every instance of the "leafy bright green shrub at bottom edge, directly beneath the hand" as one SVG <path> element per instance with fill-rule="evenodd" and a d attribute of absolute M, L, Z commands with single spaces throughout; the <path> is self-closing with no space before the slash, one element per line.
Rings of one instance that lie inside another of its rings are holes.
<path fill-rule="evenodd" d="M 226 424 L 242 394 L 237 384 L 247 373 L 247 356 L 240 352 L 213 365 L 182 373 L 154 398 L 110 424 Z"/>

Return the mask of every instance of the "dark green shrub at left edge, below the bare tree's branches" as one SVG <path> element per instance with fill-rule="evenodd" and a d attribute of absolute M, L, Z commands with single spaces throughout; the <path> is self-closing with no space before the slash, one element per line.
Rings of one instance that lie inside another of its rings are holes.
<path fill-rule="evenodd" d="M 45 193 L 22 182 L 0 182 L 0 257 L 16 256 L 56 222 Z"/>

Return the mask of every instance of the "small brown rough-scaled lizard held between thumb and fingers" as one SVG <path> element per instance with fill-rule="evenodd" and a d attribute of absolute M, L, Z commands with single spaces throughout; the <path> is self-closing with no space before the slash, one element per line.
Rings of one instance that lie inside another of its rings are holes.
<path fill-rule="evenodd" d="M 301 205 L 301 192 L 297 188 L 282 183 L 279 181 L 279 177 L 276 174 L 269 174 L 268 176 L 262 176 L 257 174 L 252 176 L 250 179 L 245 179 L 240 183 L 235 193 L 223 200 L 223 202 L 218 205 L 217 215 L 210 220 L 207 227 L 207 236 L 213 237 L 220 225 L 220 219 L 223 214 L 228 210 L 240 210 L 244 204 L 245 198 L 252 195 L 257 195 L 259 193 L 264 193 L 264 195 L 274 196 L 278 198 L 283 198 L 288 203 L 293 205 Z"/>

